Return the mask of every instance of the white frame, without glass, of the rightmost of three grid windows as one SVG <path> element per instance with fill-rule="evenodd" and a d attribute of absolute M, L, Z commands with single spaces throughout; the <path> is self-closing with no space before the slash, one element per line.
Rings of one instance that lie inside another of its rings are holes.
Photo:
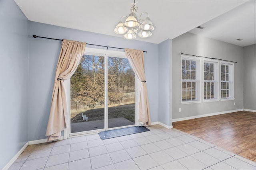
<path fill-rule="evenodd" d="M 228 81 L 223 81 L 221 80 L 221 67 L 222 67 L 222 64 L 224 65 L 228 65 Z M 228 98 L 222 98 L 221 97 L 221 91 L 222 91 L 222 87 L 221 87 L 221 84 L 222 82 L 228 82 Z M 226 61 L 221 61 L 220 62 L 220 100 L 221 101 L 226 101 L 226 100 L 234 100 L 234 63 L 230 63 L 230 62 L 226 62 Z"/>

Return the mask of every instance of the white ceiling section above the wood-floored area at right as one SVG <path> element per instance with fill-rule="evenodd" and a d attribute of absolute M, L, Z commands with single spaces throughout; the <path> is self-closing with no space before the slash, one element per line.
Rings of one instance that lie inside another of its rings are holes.
<path fill-rule="evenodd" d="M 255 1 L 246 2 L 201 24 L 200 26 L 204 29 L 194 28 L 189 32 L 242 47 L 255 44 L 255 8 Z M 236 39 L 243 40 L 237 41 Z"/>

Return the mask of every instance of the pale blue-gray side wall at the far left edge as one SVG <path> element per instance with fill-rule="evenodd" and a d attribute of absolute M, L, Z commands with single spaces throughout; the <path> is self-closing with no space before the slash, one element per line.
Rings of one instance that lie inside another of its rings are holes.
<path fill-rule="evenodd" d="M 28 20 L 0 0 L 0 169 L 28 141 Z"/>

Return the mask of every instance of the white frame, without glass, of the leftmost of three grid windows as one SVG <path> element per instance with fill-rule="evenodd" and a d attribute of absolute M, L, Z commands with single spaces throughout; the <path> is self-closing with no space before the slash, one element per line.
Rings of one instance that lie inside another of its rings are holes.
<path fill-rule="evenodd" d="M 196 61 L 196 79 L 195 80 L 186 80 L 186 79 L 182 79 L 182 60 L 190 60 L 190 61 Z M 201 59 L 200 58 L 195 58 L 195 57 L 189 57 L 186 55 L 182 55 L 181 56 L 181 104 L 192 104 L 192 103 L 200 103 L 202 101 L 202 83 L 201 83 Z M 182 100 L 182 82 L 196 82 L 196 99 L 195 100 L 189 100 L 189 101 L 183 101 Z"/>

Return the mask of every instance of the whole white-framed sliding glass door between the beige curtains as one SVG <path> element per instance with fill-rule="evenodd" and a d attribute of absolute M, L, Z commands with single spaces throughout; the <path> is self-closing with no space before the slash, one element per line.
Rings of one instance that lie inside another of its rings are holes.
<path fill-rule="evenodd" d="M 135 92 L 125 55 L 84 55 L 70 79 L 70 133 L 136 125 Z"/>

